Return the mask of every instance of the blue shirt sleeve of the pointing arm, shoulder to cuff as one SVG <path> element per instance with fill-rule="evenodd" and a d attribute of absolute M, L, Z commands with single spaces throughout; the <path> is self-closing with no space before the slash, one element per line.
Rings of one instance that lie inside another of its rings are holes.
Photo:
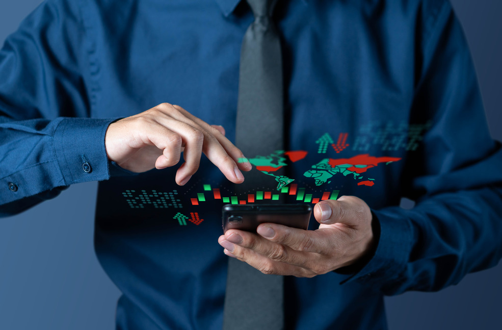
<path fill-rule="evenodd" d="M 109 179 L 104 136 L 115 118 L 89 118 L 78 3 L 42 3 L 0 50 L 0 216 Z"/>

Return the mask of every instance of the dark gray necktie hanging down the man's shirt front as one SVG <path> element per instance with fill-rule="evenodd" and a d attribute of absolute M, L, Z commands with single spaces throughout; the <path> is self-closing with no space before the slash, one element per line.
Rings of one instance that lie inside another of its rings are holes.
<path fill-rule="evenodd" d="M 235 141 L 245 156 L 284 149 L 282 58 L 271 14 L 277 0 L 247 0 L 255 20 L 241 48 Z M 276 186 L 270 175 L 247 172 L 240 193 Z M 265 275 L 234 258 L 228 261 L 223 330 L 284 328 L 283 276 Z"/>

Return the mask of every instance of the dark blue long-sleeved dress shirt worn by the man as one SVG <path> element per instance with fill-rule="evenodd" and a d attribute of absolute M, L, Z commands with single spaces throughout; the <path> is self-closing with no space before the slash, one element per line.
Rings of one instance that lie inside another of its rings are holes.
<path fill-rule="evenodd" d="M 108 161 L 104 136 L 114 120 L 169 102 L 233 141 L 252 20 L 238 0 L 48 0 L 0 51 L 0 213 L 101 181 L 95 247 L 123 292 L 118 329 L 221 328 L 227 257 L 213 189 L 229 196 L 231 186 L 204 157 L 185 187 L 176 167 L 128 173 Z M 281 0 L 274 20 L 287 149 L 308 151 L 289 175 L 312 197 L 364 199 L 378 237 L 359 267 L 286 277 L 287 328 L 386 328 L 384 294 L 439 290 L 495 265 L 502 151 L 450 3 Z M 349 145 L 336 153 L 325 133 L 336 145 L 347 133 Z M 353 173 L 322 185 L 304 175 L 323 158 L 363 154 L 401 160 L 368 168 L 362 185 Z M 399 207 L 403 196 L 413 209 Z"/>

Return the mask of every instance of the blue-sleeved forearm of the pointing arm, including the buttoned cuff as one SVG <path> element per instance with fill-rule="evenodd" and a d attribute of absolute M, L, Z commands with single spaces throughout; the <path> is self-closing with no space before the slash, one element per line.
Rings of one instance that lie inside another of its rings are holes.
<path fill-rule="evenodd" d="M 1 215 L 55 197 L 61 190 L 55 188 L 109 178 L 104 135 L 114 119 L 1 118 Z"/>

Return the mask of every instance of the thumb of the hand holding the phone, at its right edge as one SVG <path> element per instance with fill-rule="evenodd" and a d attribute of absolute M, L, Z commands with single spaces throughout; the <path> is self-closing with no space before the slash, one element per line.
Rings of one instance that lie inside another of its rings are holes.
<path fill-rule="evenodd" d="M 323 200 L 316 204 L 314 217 L 321 224 L 357 226 L 371 220 L 372 214 L 364 200 L 355 196 L 341 196 L 337 200 Z"/>

